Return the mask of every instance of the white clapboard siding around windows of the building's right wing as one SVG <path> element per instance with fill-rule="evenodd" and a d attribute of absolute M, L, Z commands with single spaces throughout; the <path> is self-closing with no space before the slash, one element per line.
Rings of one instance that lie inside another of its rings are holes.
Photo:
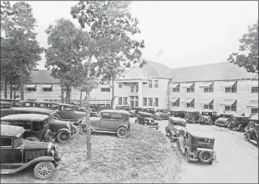
<path fill-rule="evenodd" d="M 214 110 L 216 110 L 218 113 L 221 113 L 225 110 L 224 106 L 221 106 L 220 103 L 224 101 L 225 99 L 236 99 L 237 100 L 237 112 L 245 114 L 250 114 L 250 110 L 247 108 L 247 104 L 251 100 L 257 100 L 258 101 L 258 93 L 251 93 L 251 87 L 250 91 L 247 89 L 247 85 L 254 83 L 251 80 L 239 80 L 237 81 L 237 92 L 236 93 L 225 93 L 225 88 L 222 88 L 220 84 L 224 83 L 224 81 L 214 81 L 214 92 L 203 92 L 203 90 L 200 89 L 199 85 L 200 82 L 195 83 L 195 92 L 187 93 L 183 88 L 181 87 L 180 83 L 180 92 L 172 92 L 172 83 L 169 85 L 169 98 L 172 99 L 172 97 L 180 97 L 180 107 L 185 107 L 184 103 L 181 101 L 184 98 L 194 98 L 195 99 L 195 108 L 197 110 L 203 110 L 203 107 L 200 105 L 200 101 L 202 99 L 214 99 Z M 258 85 L 257 85 L 258 86 Z M 170 101 L 170 100 L 169 100 Z M 171 101 L 172 103 L 172 101 Z M 173 106 L 169 103 L 169 108 L 172 110 Z"/>

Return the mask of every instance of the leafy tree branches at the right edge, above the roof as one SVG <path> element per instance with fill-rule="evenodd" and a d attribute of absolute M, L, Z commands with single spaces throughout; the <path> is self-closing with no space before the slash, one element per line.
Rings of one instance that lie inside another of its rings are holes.
<path fill-rule="evenodd" d="M 239 41 L 240 52 L 233 52 L 227 61 L 245 67 L 247 72 L 258 73 L 258 22 L 249 26 L 248 33 Z"/>

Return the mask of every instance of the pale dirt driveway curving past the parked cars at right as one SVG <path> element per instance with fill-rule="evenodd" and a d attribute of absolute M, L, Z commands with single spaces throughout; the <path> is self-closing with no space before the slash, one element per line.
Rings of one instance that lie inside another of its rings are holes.
<path fill-rule="evenodd" d="M 158 122 L 160 131 L 165 133 L 167 121 Z M 189 123 L 187 129 L 207 132 L 215 137 L 217 162 L 207 165 L 183 161 L 178 183 L 258 183 L 258 147 L 245 141 L 242 133 L 216 125 Z"/>

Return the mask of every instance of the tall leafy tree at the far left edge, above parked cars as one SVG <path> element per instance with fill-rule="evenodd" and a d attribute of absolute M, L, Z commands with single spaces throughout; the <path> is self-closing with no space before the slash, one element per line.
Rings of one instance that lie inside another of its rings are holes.
<path fill-rule="evenodd" d="M 43 48 L 36 40 L 34 28 L 37 25 L 30 5 L 20 1 L 6 7 L 8 10 L 1 19 L 1 76 L 8 81 L 19 78 L 21 99 L 24 99 L 23 83 L 30 79 L 30 73 L 41 60 Z"/>

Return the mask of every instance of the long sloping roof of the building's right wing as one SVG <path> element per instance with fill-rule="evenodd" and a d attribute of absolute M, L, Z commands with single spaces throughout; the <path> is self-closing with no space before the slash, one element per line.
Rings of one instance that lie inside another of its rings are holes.
<path fill-rule="evenodd" d="M 230 62 L 174 68 L 171 73 L 170 78 L 177 82 L 258 79 L 258 74 L 249 73 Z"/>

